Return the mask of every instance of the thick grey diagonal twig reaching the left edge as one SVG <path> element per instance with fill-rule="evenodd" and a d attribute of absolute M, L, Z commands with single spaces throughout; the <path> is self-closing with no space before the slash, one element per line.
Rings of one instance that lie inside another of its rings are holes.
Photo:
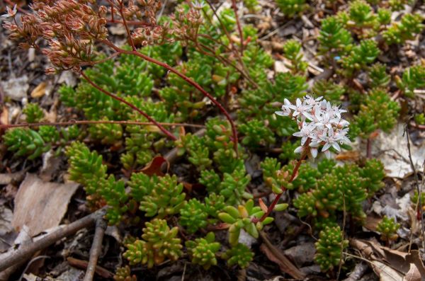
<path fill-rule="evenodd" d="M 43 248 L 47 248 L 56 241 L 59 241 L 64 237 L 72 235 L 80 229 L 84 229 L 94 225 L 96 220 L 99 217 L 103 217 L 104 214 L 105 209 L 98 210 L 92 214 L 89 214 L 86 217 L 83 217 L 75 222 L 72 222 L 71 224 L 68 224 L 67 226 L 64 226 L 62 229 L 58 229 L 55 232 L 47 234 L 46 236 L 42 237 L 42 239 L 37 240 L 28 246 L 19 248 L 17 251 L 14 251 L 10 255 L 8 255 L 6 258 L 0 260 L 0 271 L 5 270 L 6 268 L 14 265 L 15 263 L 21 262 L 26 258 L 30 258 L 35 252 L 40 251 Z"/>

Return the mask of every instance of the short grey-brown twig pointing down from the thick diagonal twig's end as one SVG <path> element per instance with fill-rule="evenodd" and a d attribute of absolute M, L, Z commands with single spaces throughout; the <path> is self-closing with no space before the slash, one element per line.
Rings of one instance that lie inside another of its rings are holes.
<path fill-rule="evenodd" d="M 92 281 L 94 273 L 96 271 L 96 265 L 98 258 L 102 251 L 102 241 L 103 235 L 106 230 L 106 220 L 100 218 L 96 221 L 96 230 L 94 232 L 94 239 L 90 249 L 90 258 L 89 264 L 87 265 L 86 275 L 84 276 L 84 281 Z"/>

